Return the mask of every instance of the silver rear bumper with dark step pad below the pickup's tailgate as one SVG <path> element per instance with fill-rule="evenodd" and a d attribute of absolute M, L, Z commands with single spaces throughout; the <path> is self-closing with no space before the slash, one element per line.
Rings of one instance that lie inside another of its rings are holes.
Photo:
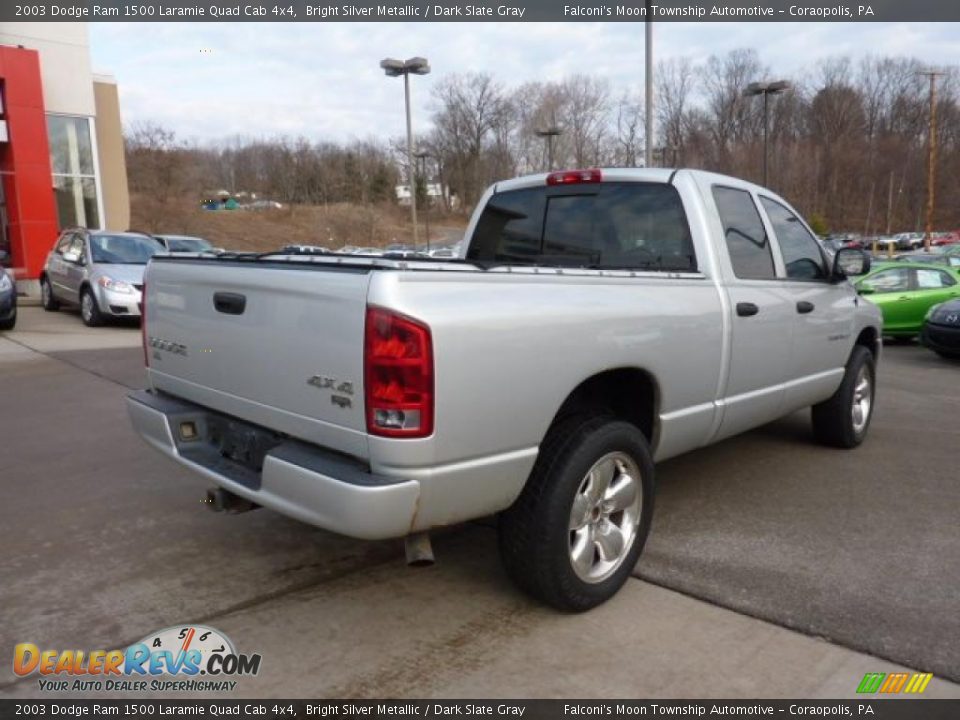
<path fill-rule="evenodd" d="M 127 411 L 149 445 L 263 507 L 367 540 L 403 537 L 415 523 L 420 498 L 416 480 L 375 475 L 344 456 L 283 439 L 266 453 L 257 472 L 224 458 L 210 443 L 211 422 L 222 422 L 224 416 L 147 391 L 128 395 Z M 184 422 L 195 424 L 198 439 L 181 439 Z"/>

